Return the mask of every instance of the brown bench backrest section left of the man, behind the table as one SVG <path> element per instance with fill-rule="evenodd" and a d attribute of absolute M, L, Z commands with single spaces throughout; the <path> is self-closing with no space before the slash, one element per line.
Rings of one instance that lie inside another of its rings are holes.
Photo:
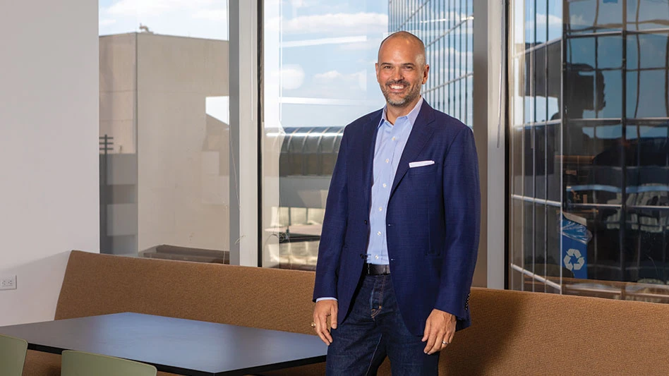
<path fill-rule="evenodd" d="M 72 251 L 56 320 L 136 312 L 313 334 L 313 272 Z"/>

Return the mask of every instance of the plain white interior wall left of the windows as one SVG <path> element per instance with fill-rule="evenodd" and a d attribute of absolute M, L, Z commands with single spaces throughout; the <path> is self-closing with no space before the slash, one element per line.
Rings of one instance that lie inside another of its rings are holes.
<path fill-rule="evenodd" d="M 53 320 L 68 250 L 97 252 L 97 1 L 3 1 L 0 325 Z"/>

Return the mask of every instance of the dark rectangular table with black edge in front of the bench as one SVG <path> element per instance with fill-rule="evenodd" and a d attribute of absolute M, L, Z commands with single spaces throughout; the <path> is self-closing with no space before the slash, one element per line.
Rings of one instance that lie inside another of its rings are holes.
<path fill-rule="evenodd" d="M 321 363 L 318 336 L 140 313 L 0 327 L 47 353 L 87 351 L 137 360 L 182 375 L 247 375 Z"/>

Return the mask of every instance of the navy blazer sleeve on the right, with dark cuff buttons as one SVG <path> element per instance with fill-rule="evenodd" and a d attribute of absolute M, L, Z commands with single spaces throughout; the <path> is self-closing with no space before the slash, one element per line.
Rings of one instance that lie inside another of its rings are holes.
<path fill-rule="evenodd" d="M 464 319 L 468 317 L 469 289 L 481 227 L 478 157 L 470 128 L 457 133 L 448 148 L 443 168 L 446 241 L 435 308 Z"/>

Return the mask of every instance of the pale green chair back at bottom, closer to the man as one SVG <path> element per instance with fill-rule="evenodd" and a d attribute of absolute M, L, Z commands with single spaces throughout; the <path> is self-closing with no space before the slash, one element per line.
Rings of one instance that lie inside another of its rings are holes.
<path fill-rule="evenodd" d="M 156 376 L 154 366 L 83 351 L 63 351 L 61 376 Z"/>

